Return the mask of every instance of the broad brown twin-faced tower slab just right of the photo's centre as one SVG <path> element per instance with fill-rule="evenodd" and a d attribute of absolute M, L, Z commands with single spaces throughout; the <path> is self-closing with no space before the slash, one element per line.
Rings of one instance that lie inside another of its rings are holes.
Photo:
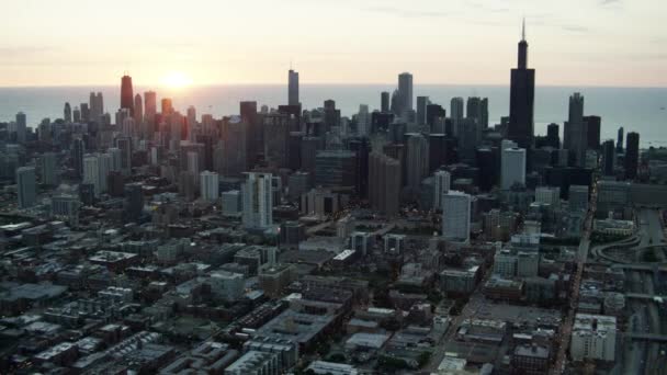
<path fill-rule="evenodd" d="M 386 216 L 399 211 L 400 163 L 384 154 L 369 156 L 369 201 L 371 207 Z"/>

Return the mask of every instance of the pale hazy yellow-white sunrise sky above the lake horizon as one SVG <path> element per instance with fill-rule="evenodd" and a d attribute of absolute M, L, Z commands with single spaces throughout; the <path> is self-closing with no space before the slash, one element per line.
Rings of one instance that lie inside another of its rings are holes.
<path fill-rule="evenodd" d="M 665 0 L 2 2 L 0 86 L 508 84 L 525 15 L 538 84 L 667 87 Z"/>

